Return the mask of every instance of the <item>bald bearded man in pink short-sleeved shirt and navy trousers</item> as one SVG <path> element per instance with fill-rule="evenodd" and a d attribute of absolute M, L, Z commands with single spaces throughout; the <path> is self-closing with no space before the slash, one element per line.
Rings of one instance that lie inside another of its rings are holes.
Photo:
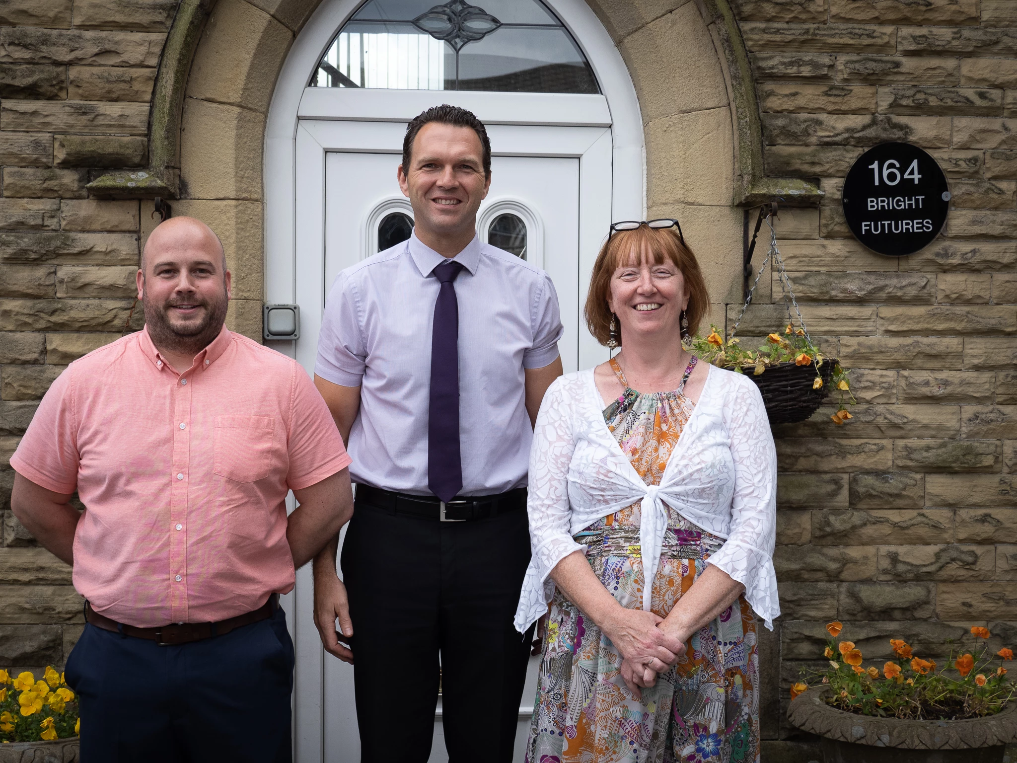
<path fill-rule="evenodd" d="M 350 518 L 350 457 L 303 368 L 224 327 L 230 279 L 203 223 L 157 227 L 144 330 L 71 363 L 11 458 L 14 514 L 87 600 L 82 763 L 291 759 L 279 594 Z"/>

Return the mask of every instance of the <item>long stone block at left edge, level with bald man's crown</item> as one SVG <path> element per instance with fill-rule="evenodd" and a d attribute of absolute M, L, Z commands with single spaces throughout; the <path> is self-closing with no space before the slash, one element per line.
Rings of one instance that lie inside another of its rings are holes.
<path fill-rule="evenodd" d="M 5 171 L 6 172 L 6 171 Z M 0 233 L 0 262 L 137 266 L 132 233 Z"/>

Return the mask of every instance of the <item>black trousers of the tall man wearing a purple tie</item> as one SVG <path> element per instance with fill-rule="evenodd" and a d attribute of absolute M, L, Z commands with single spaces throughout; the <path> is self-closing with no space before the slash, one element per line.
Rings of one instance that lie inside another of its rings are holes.
<path fill-rule="evenodd" d="M 426 763 L 441 667 L 450 763 L 511 763 L 531 635 L 513 627 L 525 511 L 470 522 L 358 500 L 341 557 L 364 763 Z"/>

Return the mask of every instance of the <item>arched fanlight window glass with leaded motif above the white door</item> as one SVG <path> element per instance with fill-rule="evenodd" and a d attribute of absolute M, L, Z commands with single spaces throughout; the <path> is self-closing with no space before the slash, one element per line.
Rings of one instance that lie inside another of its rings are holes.
<path fill-rule="evenodd" d="M 312 87 L 599 93 L 569 31 L 540 0 L 369 0 Z"/>

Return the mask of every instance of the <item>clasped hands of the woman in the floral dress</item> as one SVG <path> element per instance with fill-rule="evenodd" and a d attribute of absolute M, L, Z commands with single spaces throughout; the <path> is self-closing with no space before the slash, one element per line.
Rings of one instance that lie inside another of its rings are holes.
<path fill-rule="evenodd" d="M 684 654 L 685 644 L 670 631 L 670 624 L 653 612 L 617 607 L 602 630 L 621 655 L 621 679 L 629 690 L 642 699 L 641 688 L 657 683 Z"/>

